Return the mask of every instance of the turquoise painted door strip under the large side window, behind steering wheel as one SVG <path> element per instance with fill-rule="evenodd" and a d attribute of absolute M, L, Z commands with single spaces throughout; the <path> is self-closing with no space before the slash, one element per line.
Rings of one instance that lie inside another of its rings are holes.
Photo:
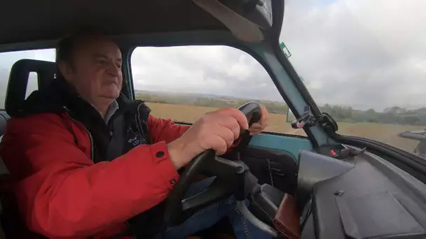
<path fill-rule="evenodd" d="M 250 146 L 263 147 L 272 150 L 282 150 L 289 152 L 298 159 L 298 152 L 301 150 L 313 150 L 312 143 L 308 138 L 298 138 L 269 133 L 261 133 L 252 138 Z"/>

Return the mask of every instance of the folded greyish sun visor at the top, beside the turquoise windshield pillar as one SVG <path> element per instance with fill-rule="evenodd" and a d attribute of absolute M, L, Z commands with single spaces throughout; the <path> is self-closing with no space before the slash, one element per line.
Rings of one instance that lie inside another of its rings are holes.
<path fill-rule="evenodd" d="M 258 25 L 238 15 L 219 1 L 193 0 L 193 2 L 221 21 L 241 41 L 256 43 L 265 39 Z"/>

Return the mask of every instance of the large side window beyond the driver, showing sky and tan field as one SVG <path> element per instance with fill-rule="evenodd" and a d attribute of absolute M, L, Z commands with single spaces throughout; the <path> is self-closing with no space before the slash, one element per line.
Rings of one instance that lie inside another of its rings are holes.
<path fill-rule="evenodd" d="M 266 131 L 294 134 L 282 96 L 246 52 L 228 46 L 136 48 L 131 64 L 136 98 L 156 117 L 193 123 L 217 108 L 259 101 L 270 113 Z"/>

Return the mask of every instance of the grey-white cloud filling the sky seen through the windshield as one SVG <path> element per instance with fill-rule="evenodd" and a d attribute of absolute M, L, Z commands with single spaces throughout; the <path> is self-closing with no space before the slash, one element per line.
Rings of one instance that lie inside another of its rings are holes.
<path fill-rule="evenodd" d="M 281 40 L 320 104 L 426 106 L 426 1 L 286 1 Z"/>

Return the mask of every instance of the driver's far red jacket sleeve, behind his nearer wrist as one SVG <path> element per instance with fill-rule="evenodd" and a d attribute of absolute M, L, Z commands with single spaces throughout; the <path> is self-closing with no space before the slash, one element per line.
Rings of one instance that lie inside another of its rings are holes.
<path fill-rule="evenodd" d="M 158 143 L 165 141 L 170 143 L 179 138 L 182 134 L 189 129 L 188 125 L 174 124 L 170 119 L 160 119 L 153 115 L 148 117 L 148 131 L 151 136 L 151 142 Z"/>

